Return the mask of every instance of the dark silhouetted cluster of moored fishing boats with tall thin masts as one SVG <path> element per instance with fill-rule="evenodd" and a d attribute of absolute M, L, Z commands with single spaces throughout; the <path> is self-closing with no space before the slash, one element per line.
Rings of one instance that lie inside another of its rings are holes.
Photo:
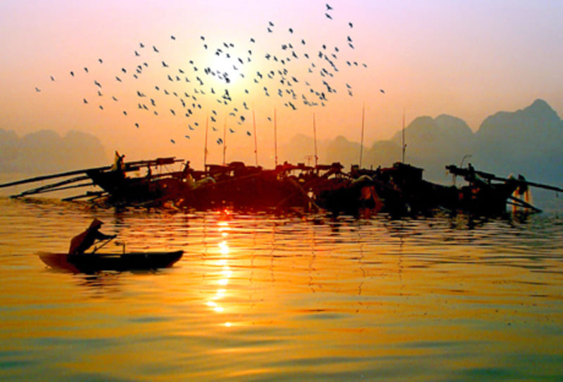
<path fill-rule="evenodd" d="M 182 170 L 162 171 L 162 167 L 176 162 L 184 163 Z M 130 176 L 143 167 L 144 176 Z M 446 168 L 464 177 L 467 185 L 428 182 L 422 177 L 422 168 L 400 162 L 369 170 L 353 166 L 350 171 L 344 171 L 340 163 L 284 163 L 265 169 L 241 162 L 205 165 L 204 170 L 194 170 L 184 160 L 159 158 L 87 170 L 86 174 L 103 189 L 91 200 L 103 198 L 110 205 L 169 205 L 194 210 L 326 210 L 334 215 L 357 215 L 364 209 L 395 215 L 445 209 L 491 215 L 505 212 L 507 203 L 511 203 L 538 211 L 518 197 L 524 195 L 530 184 L 523 177 L 502 179 L 476 171 L 471 165 Z M 158 173 L 153 174 L 153 169 Z"/>

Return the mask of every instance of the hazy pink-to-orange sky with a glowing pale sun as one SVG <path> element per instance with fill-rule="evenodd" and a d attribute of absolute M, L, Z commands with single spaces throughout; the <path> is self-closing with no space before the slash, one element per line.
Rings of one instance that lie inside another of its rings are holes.
<path fill-rule="evenodd" d="M 205 146 L 208 163 L 256 147 L 271 166 L 274 137 L 360 141 L 362 110 L 366 146 L 398 132 L 403 113 L 407 124 L 454 115 L 476 131 L 536 98 L 563 110 L 561 1 L 328 6 L 4 0 L 0 128 L 80 130 L 128 159 L 196 167 Z"/>

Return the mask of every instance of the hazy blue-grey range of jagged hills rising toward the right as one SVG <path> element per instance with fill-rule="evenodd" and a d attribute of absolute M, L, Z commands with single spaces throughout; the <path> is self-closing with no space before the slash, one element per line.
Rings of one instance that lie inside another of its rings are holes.
<path fill-rule="evenodd" d="M 401 134 L 364 148 L 362 167 L 387 167 L 401 160 Z M 292 142 L 291 146 L 312 153 L 311 138 L 300 135 Z M 424 177 L 435 182 L 449 182 L 445 165 L 460 165 L 464 155 L 471 155 L 464 165 L 471 162 L 478 170 L 499 176 L 514 173 L 536 182 L 563 182 L 563 121 L 543 100 L 491 115 L 475 133 L 451 115 L 417 117 L 405 128 L 405 142 L 405 162 L 424 168 Z M 359 163 L 360 144 L 343 136 L 317 146 L 321 163 L 341 162 L 346 168 Z"/>

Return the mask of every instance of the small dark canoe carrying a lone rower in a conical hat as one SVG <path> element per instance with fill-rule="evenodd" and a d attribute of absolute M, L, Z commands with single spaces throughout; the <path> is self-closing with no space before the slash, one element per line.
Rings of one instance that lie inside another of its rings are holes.
<path fill-rule="evenodd" d="M 39 258 L 53 269 L 75 273 L 96 273 L 100 271 L 130 271 L 167 268 L 175 264 L 184 251 L 174 252 L 131 252 L 131 253 L 39 253 Z"/>

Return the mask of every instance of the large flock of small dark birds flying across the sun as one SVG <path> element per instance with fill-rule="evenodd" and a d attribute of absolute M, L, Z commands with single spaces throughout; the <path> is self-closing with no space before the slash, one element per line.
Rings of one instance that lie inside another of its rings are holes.
<path fill-rule="evenodd" d="M 333 23 L 333 8 L 326 4 L 324 15 L 329 23 Z M 353 23 L 348 23 L 346 28 L 353 30 Z M 87 75 L 91 77 L 93 91 L 88 96 L 82 96 L 82 103 L 105 110 L 108 103 L 120 103 L 116 86 L 127 84 L 127 89 L 136 89 L 134 94 L 127 98 L 135 99 L 134 103 L 128 102 L 120 106 L 120 113 L 129 119 L 130 126 L 137 129 L 144 127 L 141 113 L 155 116 L 168 115 L 169 117 L 184 118 L 179 122 L 185 127 L 182 135 L 191 138 L 191 133 L 197 129 L 211 127 L 215 134 L 216 143 L 224 144 L 220 137 L 220 115 L 224 116 L 223 134 L 227 127 L 227 118 L 234 118 L 236 125 L 246 130 L 246 135 L 251 136 L 248 127 L 248 115 L 252 114 L 251 99 L 270 97 L 275 98 L 274 104 L 281 102 L 289 110 L 297 110 L 302 106 L 326 106 L 331 96 L 341 91 L 333 86 L 333 79 L 341 72 L 341 67 L 367 68 L 365 63 L 346 60 L 342 56 L 346 51 L 354 48 L 353 38 L 349 33 L 346 39 L 342 38 L 343 46 L 329 46 L 322 44 L 316 49 L 311 49 L 305 37 L 297 37 L 297 31 L 292 27 L 279 31 L 272 21 L 266 25 L 265 36 L 277 34 L 276 39 L 286 39 L 286 42 L 270 49 L 267 52 L 257 50 L 256 39 L 251 37 L 246 42 L 234 44 L 222 42 L 212 46 L 205 36 L 198 37 L 201 48 L 209 57 L 208 61 L 220 63 L 217 65 L 200 65 L 193 59 L 186 61 L 181 67 L 174 65 L 174 61 L 165 57 L 167 49 L 158 46 L 139 43 L 132 49 L 132 55 L 137 65 L 134 68 L 116 68 L 111 83 L 102 83 L 96 79 L 96 68 L 104 65 L 102 58 L 94 67 L 84 66 L 81 69 L 70 70 L 68 76 L 76 78 Z M 170 36 L 170 45 L 175 49 L 179 37 Z M 175 55 L 177 52 L 175 51 Z M 172 57 L 173 58 L 173 57 Z M 153 70 L 151 81 L 160 77 L 158 83 L 152 82 L 148 89 L 139 89 L 137 86 L 147 82 L 138 81 L 146 72 Z M 57 79 L 50 76 L 51 82 Z M 138 82 L 135 82 L 135 81 Z M 41 92 L 38 87 L 37 92 Z M 346 83 L 343 89 L 348 96 L 353 96 L 353 87 Z M 384 91 L 381 89 L 381 93 Z M 208 105 L 215 104 L 215 107 Z M 272 121 L 272 117 L 267 117 Z M 233 126 L 233 123 L 229 123 Z M 229 128 L 233 134 L 239 127 Z M 206 132 L 207 135 L 207 132 Z M 176 144 L 175 137 L 170 138 Z"/>

